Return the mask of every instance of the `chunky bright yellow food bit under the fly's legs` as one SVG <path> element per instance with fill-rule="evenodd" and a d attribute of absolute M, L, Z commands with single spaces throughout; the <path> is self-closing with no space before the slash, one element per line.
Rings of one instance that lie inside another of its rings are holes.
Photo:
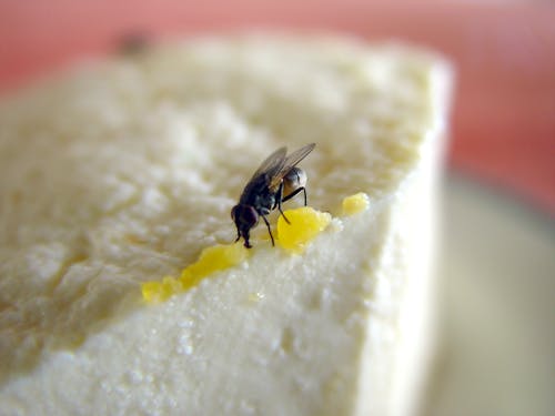
<path fill-rule="evenodd" d="M 329 213 L 310 206 L 287 210 L 284 214 L 290 224 L 283 215 L 278 220 L 278 244 L 296 254 L 302 253 L 306 244 L 324 231 L 332 221 Z"/>

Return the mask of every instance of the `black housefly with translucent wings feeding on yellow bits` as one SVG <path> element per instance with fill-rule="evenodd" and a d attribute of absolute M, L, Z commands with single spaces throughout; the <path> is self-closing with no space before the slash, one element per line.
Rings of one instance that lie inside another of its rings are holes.
<path fill-rule="evenodd" d="M 304 193 L 304 205 L 306 205 L 306 190 L 304 187 L 306 174 L 302 169 L 296 168 L 296 164 L 306 158 L 315 145 L 315 143 L 306 144 L 289 155 L 286 154 L 287 149 L 281 148 L 262 162 L 244 187 L 239 204 L 231 210 L 231 217 L 238 229 L 235 241 L 243 237 L 244 246 L 251 248 L 252 245 L 249 242 L 250 231 L 256 226 L 259 219 L 262 216 L 270 233 L 272 245 L 274 245 L 274 237 L 266 215 L 272 210 L 278 209 L 289 223 L 281 204 L 300 192 Z"/>

